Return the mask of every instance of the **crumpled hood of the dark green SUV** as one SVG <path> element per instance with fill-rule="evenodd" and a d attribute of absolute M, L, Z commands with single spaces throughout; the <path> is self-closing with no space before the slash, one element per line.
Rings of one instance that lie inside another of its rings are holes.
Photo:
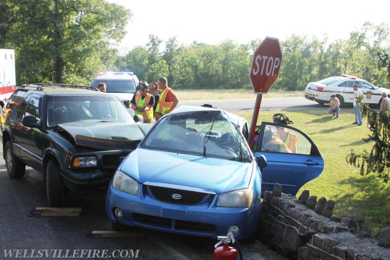
<path fill-rule="evenodd" d="M 77 146 L 101 150 L 135 149 L 145 136 L 138 124 L 117 122 L 71 122 L 58 125 L 68 133 Z"/>

